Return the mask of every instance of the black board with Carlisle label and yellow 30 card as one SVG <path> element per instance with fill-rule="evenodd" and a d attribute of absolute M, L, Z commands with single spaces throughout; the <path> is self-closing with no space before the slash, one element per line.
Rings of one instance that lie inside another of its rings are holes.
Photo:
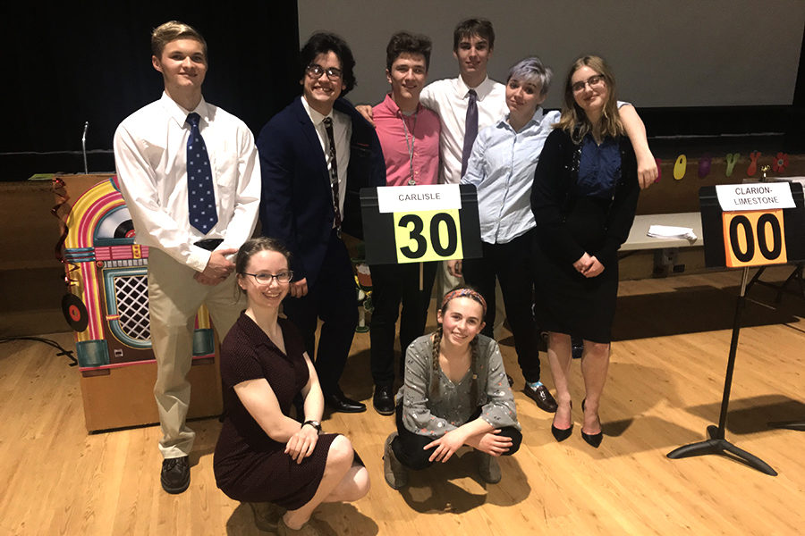
<path fill-rule="evenodd" d="M 360 210 L 369 264 L 427 263 L 482 255 L 473 186 L 362 188 Z"/>

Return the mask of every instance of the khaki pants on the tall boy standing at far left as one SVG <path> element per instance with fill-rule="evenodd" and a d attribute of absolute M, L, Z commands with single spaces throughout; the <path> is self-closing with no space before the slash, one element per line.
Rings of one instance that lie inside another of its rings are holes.
<path fill-rule="evenodd" d="M 192 268 L 180 264 L 156 247 L 148 255 L 148 308 L 151 344 L 157 358 L 157 398 L 163 438 L 159 450 L 165 458 L 187 456 L 196 433 L 185 418 L 190 406 L 191 384 L 187 381 L 193 349 L 196 313 L 206 304 L 212 322 L 223 340 L 246 307 L 233 273 L 210 287 L 193 279 Z"/>

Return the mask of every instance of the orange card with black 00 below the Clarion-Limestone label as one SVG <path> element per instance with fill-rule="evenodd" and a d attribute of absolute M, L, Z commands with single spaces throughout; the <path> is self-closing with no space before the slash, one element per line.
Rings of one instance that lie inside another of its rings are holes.
<path fill-rule="evenodd" d="M 722 214 L 724 253 L 730 268 L 785 264 L 783 210 Z"/>

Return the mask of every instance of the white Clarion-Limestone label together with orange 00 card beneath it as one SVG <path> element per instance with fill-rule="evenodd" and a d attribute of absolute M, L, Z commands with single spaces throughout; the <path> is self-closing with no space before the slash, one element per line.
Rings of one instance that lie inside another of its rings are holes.
<path fill-rule="evenodd" d="M 724 211 L 722 229 L 727 266 L 788 262 L 783 209 L 796 205 L 787 183 L 718 185 L 716 196 Z"/>

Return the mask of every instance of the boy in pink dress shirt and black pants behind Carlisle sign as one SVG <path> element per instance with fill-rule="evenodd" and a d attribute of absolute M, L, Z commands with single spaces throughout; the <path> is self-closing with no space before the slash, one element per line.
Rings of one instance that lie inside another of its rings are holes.
<path fill-rule="evenodd" d="M 437 184 L 439 177 L 439 117 L 419 104 L 430 63 L 430 39 L 407 32 L 394 34 L 386 46 L 386 79 L 391 92 L 372 110 L 377 137 L 386 159 L 388 186 Z M 437 263 L 376 264 L 371 266 L 371 369 L 375 382 L 372 402 L 381 415 L 394 413 L 394 323 L 402 302 L 400 347 L 425 330 L 428 303 Z M 404 364 L 401 358 L 401 370 Z M 402 373 L 401 373 L 402 376 Z"/>

